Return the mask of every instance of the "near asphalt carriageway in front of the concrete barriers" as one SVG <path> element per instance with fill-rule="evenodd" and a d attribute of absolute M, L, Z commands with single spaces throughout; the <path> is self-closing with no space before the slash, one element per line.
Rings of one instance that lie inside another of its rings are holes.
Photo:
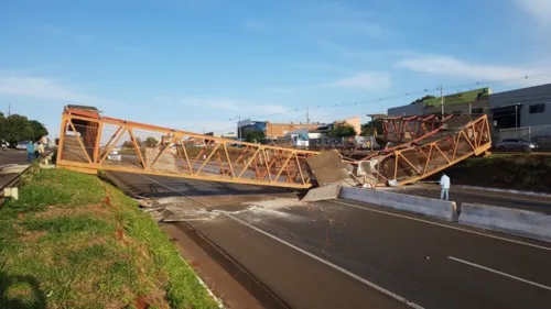
<path fill-rule="evenodd" d="M 225 192 L 218 184 L 123 178 L 148 180 L 155 195 Z M 216 213 L 190 223 L 293 308 L 550 306 L 548 244 L 346 200 Z"/>

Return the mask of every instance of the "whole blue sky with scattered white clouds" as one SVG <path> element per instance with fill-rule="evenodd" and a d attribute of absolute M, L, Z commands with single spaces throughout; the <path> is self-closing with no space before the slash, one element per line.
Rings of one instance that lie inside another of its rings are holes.
<path fill-rule="evenodd" d="M 0 110 L 53 136 L 67 103 L 195 132 L 329 122 L 550 82 L 483 82 L 551 73 L 550 35 L 548 0 L 2 1 Z"/>

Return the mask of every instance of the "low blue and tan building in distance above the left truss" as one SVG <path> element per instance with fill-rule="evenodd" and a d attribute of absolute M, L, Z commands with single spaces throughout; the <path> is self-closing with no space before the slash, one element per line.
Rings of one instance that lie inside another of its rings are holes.
<path fill-rule="evenodd" d="M 244 139 L 245 134 L 250 131 L 262 131 L 264 136 L 270 140 L 284 136 L 287 133 L 296 131 L 299 129 L 314 130 L 321 124 L 318 122 L 314 123 L 277 123 L 270 121 L 252 121 L 250 119 L 239 121 L 237 123 L 237 136 Z"/>

